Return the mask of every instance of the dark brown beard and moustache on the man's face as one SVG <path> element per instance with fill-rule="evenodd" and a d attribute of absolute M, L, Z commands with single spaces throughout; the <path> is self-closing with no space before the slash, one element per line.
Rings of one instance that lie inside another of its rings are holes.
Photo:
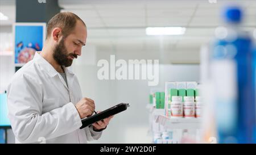
<path fill-rule="evenodd" d="M 73 60 L 68 58 L 68 56 L 73 56 L 77 58 L 77 55 L 73 53 L 68 54 L 67 48 L 64 45 L 63 38 L 60 40 L 60 43 L 56 45 L 55 49 L 53 50 L 53 58 L 59 65 L 69 67 L 72 65 Z"/>

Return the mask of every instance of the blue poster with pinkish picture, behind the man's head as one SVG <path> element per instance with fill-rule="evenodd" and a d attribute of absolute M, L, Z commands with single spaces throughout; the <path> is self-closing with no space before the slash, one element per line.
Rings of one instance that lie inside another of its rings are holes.
<path fill-rule="evenodd" d="M 15 64 L 27 63 L 42 50 L 44 33 L 43 25 L 15 25 Z"/>

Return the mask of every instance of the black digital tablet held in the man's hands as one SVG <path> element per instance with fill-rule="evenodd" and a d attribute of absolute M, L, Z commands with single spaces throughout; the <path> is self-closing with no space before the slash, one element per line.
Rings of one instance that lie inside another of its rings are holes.
<path fill-rule="evenodd" d="M 119 103 L 114 107 L 108 108 L 107 110 L 101 111 L 98 114 L 92 115 L 89 118 L 82 119 L 82 126 L 80 129 L 87 127 L 95 122 L 108 118 L 109 116 L 118 114 L 119 112 L 125 111 L 129 107 L 129 103 Z"/>

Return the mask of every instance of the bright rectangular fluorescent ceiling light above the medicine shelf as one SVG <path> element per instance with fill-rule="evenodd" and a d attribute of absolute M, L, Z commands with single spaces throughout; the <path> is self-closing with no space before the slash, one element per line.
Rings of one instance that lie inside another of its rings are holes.
<path fill-rule="evenodd" d="M 183 35 L 185 27 L 147 27 L 146 35 Z"/>

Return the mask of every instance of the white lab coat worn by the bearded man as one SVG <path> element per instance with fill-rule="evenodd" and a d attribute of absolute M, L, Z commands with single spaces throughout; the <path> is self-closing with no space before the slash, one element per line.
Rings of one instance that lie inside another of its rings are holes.
<path fill-rule="evenodd" d="M 7 88 L 9 119 L 16 143 L 87 143 L 102 132 L 82 125 L 75 104 L 82 98 L 79 81 L 64 68 L 63 77 L 38 53 L 15 73 Z M 43 141 L 46 139 L 46 141 Z"/>

